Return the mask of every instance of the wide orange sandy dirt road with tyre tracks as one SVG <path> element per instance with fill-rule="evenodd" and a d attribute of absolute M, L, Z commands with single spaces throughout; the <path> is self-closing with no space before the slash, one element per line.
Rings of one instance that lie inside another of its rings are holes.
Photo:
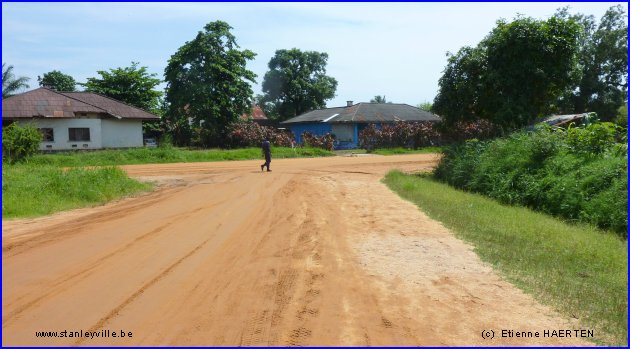
<path fill-rule="evenodd" d="M 434 156 L 259 163 L 126 166 L 167 185 L 3 221 L 2 344 L 588 344 L 481 338 L 576 327 L 379 181 Z M 64 330 L 127 336 L 35 336 Z"/>

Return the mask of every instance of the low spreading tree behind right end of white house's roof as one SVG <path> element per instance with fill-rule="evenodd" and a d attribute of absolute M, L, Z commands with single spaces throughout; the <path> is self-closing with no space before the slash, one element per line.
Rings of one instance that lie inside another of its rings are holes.
<path fill-rule="evenodd" d="M 138 62 L 131 62 L 130 67 L 99 70 L 100 78 L 88 78 L 79 85 L 86 92 L 94 92 L 125 102 L 146 111 L 158 109 L 162 92 L 154 90 L 161 82 L 157 74 L 149 74 L 147 67 L 138 67 Z"/>

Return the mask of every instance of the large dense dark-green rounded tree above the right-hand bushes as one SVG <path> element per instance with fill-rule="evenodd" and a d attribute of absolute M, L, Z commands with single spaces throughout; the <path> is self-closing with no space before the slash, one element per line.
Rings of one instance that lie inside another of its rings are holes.
<path fill-rule="evenodd" d="M 559 17 L 498 21 L 477 47 L 449 57 L 433 110 L 447 124 L 481 118 L 506 129 L 555 111 L 578 77 L 579 33 Z"/>

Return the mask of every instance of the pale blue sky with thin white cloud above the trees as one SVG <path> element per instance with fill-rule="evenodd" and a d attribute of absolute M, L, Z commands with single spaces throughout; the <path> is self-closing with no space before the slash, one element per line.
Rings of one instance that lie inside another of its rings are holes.
<path fill-rule="evenodd" d="M 547 19 L 556 9 L 594 15 L 623 2 L 529 3 L 2 3 L 2 62 L 17 76 L 52 70 L 77 82 L 98 70 L 146 66 L 163 79 L 168 59 L 205 24 L 233 27 L 241 49 L 257 54 L 247 67 L 262 93 L 276 50 L 328 54 L 327 75 L 338 81 L 328 107 L 346 101 L 417 105 L 433 101 L 446 53 L 475 46 L 499 19 L 519 14 Z M 165 84 L 159 86 L 163 89 Z"/>

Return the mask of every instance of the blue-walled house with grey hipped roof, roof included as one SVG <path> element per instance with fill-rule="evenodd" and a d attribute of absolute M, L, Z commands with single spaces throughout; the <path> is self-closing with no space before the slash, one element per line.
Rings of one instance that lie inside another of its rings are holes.
<path fill-rule="evenodd" d="M 316 136 L 333 134 L 335 149 L 353 149 L 359 146 L 359 132 L 370 124 L 380 127 L 396 121 L 430 121 L 440 118 L 408 104 L 358 103 L 348 101 L 345 107 L 313 110 L 281 122 L 295 135 L 295 141 L 302 144 L 302 133 L 308 131 Z"/>

